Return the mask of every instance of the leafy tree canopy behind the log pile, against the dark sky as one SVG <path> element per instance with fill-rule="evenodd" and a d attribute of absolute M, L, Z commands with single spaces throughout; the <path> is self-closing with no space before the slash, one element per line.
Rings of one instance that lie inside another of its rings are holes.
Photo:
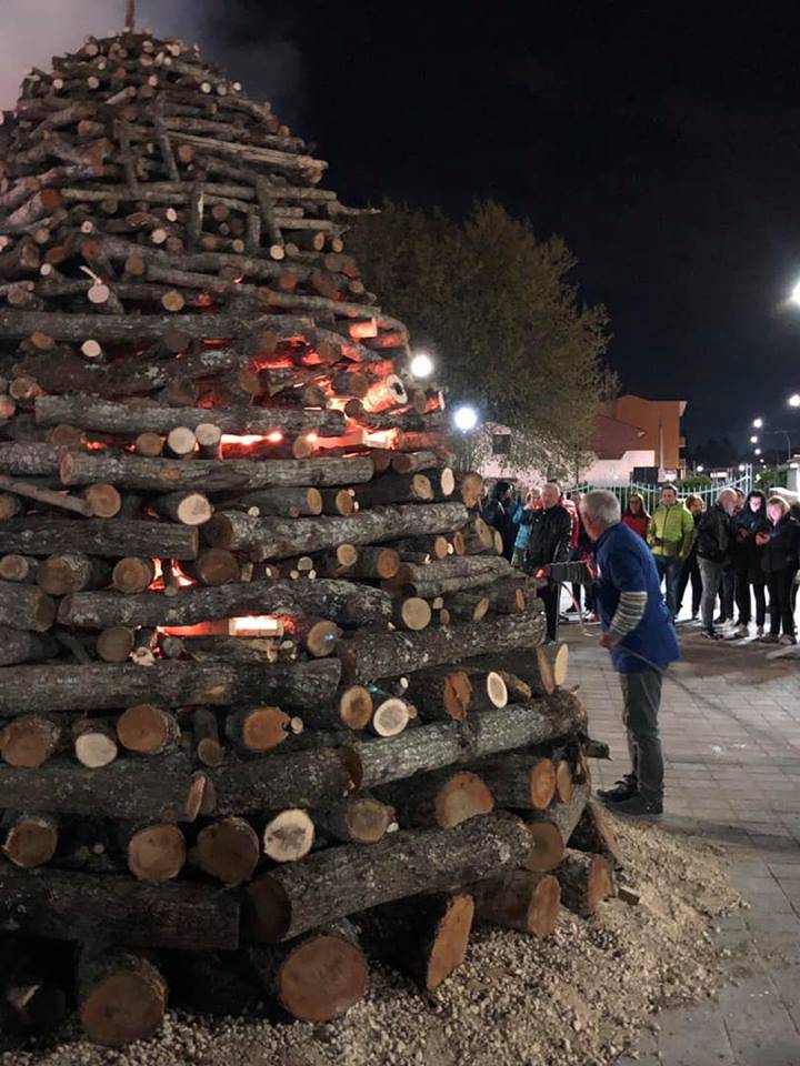
<path fill-rule="evenodd" d="M 359 219 L 351 245 L 368 288 L 438 358 L 451 402 L 517 431 L 507 462 L 573 470 L 591 449 L 608 388 L 602 306 L 586 306 L 559 237 L 538 241 L 497 203 L 463 222 L 388 202 Z"/>

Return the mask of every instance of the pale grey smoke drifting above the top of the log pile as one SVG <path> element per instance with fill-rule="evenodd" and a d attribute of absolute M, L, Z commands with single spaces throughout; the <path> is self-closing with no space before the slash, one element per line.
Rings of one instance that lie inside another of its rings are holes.
<path fill-rule="evenodd" d="M 180 37 L 200 44 L 206 59 L 241 81 L 254 99 L 270 100 L 284 121 L 296 122 L 302 109 L 303 64 L 284 38 L 263 42 L 220 13 L 214 0 L 137 0 L 137 26 L 159 37 Z M 12 110 L 31 67 L 49 70 L 53 56 L 77 51 L 87 34 L 118 32 L 124 0 L 0 0 L 0 109 Z"/>

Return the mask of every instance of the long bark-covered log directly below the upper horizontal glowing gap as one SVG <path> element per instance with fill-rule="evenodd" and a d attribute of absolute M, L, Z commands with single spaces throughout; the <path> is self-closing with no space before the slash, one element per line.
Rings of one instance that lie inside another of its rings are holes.
<path fill-rule="evenodd" d="M 2 465 L 1 451 L 0 465 Z M 40 465 L 44 465 L 43 459 L 40 460 Z M 319 487 L 356 484 L 369 481 L 373 470 L 372 461 L 368 456 L 273 460 L 269 463 L 247 459 L 196 459 L 191 463 L 184 463 L 176 459 L 144 459 L 139 455 L 120 455 L 111 452 L 69 452 L 62 456 L 58 469 L 64 485 L 108 481 L 122 489 L 137 489 L 143 492 L 170 492 L 193 487 L 212 492 L 226 489 L 271 489 L 280 485 Z M 81 523 L 82 529 L 86 525 L 87 523 Z M 302 549 L 299 550 L 302 551 Z M 289 554 L 297 554 L 297 551 Z M 153 554 L 164 554 L 169 557 L 169 553 L 153 552 Z"/>

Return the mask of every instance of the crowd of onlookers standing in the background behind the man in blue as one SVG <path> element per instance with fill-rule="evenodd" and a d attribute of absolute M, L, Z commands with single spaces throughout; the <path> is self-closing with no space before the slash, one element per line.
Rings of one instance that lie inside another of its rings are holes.
<path fill-rule="evenodd" d="M 503 554 L 532 572 L 550 563 L 590 560 L 593 545 L 580 512 L 582 494 L 569 499 L 556 482 L 517 492 L 499 481 L 483 517 L 499 530 Z M 794 609 L 800 566 L 800 505 L 760 490 L 724 489 L 709 507 L 699 495 L 679 499 L 664 485 L 652 514 L 630 493 L 621 522 L 648 545 L 673 621 L 690 595 L 688 623 L 708 640 L 754 636 L 767 644 L 796 644 Z M 548 637 L 554 640 L 559 586 L 540 591 Z M 572 586 L 568 614 L 598 621 L 592 586 Z M 769 621 L 768 621 L 769 620 Z M 754 625 L 754 630 L 753 630 Z"/>

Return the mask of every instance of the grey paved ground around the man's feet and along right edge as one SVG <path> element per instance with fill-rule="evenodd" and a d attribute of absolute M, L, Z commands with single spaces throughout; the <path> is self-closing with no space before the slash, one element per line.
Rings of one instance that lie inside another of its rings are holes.
<path fill-rule="evenodd" d="M 770 661 L 754 641 L 703 641 L 678 626 L 682 658 L 661 705 L 667 795 L 661 823 L 726 847 L 750 903 L 719 923 L 729 983 L 718 997 L 667 1009 L 618 1066 L 800 1066 L 800 657 Z M 570 683 L 612 760 L 597 786 L 628 768 L 621 696 L 598 626 L 561 630 Z"/>

